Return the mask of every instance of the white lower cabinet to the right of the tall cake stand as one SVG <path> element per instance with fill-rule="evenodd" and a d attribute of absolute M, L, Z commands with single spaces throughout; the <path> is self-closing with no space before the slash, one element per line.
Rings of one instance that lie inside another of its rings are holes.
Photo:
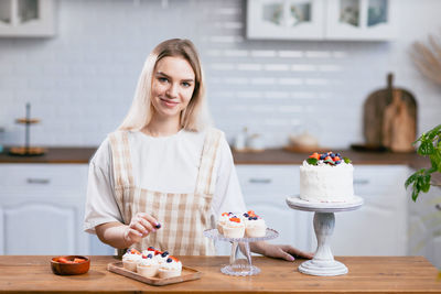
<path fill-rule="evenodd" d="M 332 251 L 335 255 L 408 254 L 406 165 L 355 165 L 354 190 L 364 205 L 335 214 Z"/>

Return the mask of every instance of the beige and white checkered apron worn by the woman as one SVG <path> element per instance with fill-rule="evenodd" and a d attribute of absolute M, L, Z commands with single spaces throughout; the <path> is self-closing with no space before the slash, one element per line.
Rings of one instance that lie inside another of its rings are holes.
<path fill-rule="evenodd" d="M 214 162 L 220 131 L 206 132 L 194 193 L 172 194 L 140 188 L 132 175 L 127 131 L 109 135 L 115 176 L 115 195 L 123 224 L 129 225 L 137 213 L 148 213 L 162 228 L 133 244 L 138 250 L 152 246 L 176 255 L 214 254 L 213 241 L 203 236 L 212 228 L 211 205 L 215 188 Z M 143 163 L 148 165 L 149 163 Z"/>

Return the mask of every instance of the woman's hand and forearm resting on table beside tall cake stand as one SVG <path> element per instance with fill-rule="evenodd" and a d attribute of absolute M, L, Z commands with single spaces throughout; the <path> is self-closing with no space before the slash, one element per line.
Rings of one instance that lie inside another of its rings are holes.
<path fill-rule="evenodd" d="M 289 244 L 270 244 L 267 242 L 255 242 L 251 250 L 256 253 L 263 254 L 269 258 L 284 259 L 294 261 L 295 258 L 312 259 L 314 257 L 311 252 L 301 251 Z"/>

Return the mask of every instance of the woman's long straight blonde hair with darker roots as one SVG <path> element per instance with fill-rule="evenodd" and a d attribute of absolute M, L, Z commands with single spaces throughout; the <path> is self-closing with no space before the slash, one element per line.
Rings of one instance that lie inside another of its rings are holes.
<path fill-rule="evenodd" d="M 195 75 L 193 96 L 181 113 L 181 127 L 187 131 L 197 132 L 211 124 L 205 101 L 205 78 L 196 47 L 190 40 L 171 39 L 155 46 L 147 57 L 138 79 L 133 101 L 118 130 L 139 131 L 149 124 L 154 111 L 151 102 L 153 72 L 158 62 L 166 56 L 186 59 Z"/>

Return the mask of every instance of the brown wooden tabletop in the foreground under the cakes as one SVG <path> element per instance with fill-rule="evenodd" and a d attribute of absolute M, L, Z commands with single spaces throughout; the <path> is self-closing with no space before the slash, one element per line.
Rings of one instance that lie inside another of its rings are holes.
<path fill-rule="evenodd" d="M 182 257 L 184 265 L 203 272 L 201 280 L 150 286 L 108 272 L 112 257 L 90 257 L 83 275 L 60 276 L 51 271 L 51 257 L 0 255 L 0 291 L 89 293 L 441 293 L 441 274 L 422 257 L 337 257 L 349 269 L 341 276 L 311 276 L 298 271 L 300 262 L 254 258 L 256 276 L 220 273 L 227 257 Z"/>

